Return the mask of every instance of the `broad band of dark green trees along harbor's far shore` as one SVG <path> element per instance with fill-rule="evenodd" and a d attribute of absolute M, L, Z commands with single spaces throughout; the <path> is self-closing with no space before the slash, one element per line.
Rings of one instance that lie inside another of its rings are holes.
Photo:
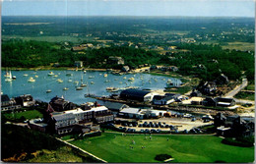
<path fill-rule="evenodd" d="M 194 75 L 205 81 L 214 81 L 221 74 L 230 80 L 238 80 L 243 72 L 249 80 L 254 80 L 254 53 L 224 50 L 220 45 L 177 43 L 177 52 L 165 55 L 128 46 L 76 53 L 57 49 L 55 45 L 39 41 L 5 41 L 2 44 L 2 66 L 33 68 L 59 63 L 63 67 L 73 67 L 75 61 L 84 61 L 90 68 L 121 69 L 123 65 L 108 62 L 110 56 L 118 56 L 132 69 L 143 64 L 172 65 L 179 68 L 181 75 Z"/>

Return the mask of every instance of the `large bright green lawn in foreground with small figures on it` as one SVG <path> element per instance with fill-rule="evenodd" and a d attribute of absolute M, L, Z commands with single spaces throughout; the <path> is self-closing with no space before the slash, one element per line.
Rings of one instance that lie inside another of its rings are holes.
<path fill-rule="evenodd" d="M 153 136 L 150 140 L 144 135 L 122 137 L 105 133 L 70 142 L 107 162 L 158 162 L 154 159 L 157 154 L 169 154 L 175 159 L 173 162 L 254 161 L 254 147 L 231 146 L 221 141 L 221 137 L 213 136 Z"/>

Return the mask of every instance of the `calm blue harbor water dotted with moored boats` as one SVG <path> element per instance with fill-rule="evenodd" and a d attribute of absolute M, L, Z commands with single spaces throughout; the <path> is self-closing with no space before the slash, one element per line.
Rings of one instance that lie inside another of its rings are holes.
<path fill-rule="evenodd" d="M 48 75 L 50 72 L 53 75 Z M 106 90 L 107 87 L 118 90 L 134 86 L 156 90 L 164 89 L 168 80 L 181 83 L 177 79 L 142 73 L 120 76 L 98 71 L 12 71 L 11 74 L 16 77 L 12 82 L 5 82 L 6 71 L 1 74 L 2 91 L 10 97 L 32 94 L 35 99 L 49 102 L 52 97 L 63 95 L 65 99 L 77 104 L 95 101 L 94 98 L 85 97 L 85 94 L 112 94 L 113 92 Z M 31 78 L 34 82 L 29 81 Z M 80 87 L 81 82 L 84 86 L 77 90 L 76 87 Z"/>

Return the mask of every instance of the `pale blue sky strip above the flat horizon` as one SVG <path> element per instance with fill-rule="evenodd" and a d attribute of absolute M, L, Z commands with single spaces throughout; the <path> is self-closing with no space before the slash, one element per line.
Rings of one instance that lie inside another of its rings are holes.
<path fill-rule="evenodd" d="M 254 18 L 255 0 L 2 0 L 1 14 Z"/>

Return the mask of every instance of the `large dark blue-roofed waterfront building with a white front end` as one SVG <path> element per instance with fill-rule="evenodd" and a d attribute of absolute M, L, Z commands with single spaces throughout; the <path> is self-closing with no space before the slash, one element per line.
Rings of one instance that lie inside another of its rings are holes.
<path fill-rule="evenodd" d="M 159 95 L 159 93 L 134 88 L 125 89 L 120 92 L 121 99 L 129 99 L 142 102 L 151 102 L 155 95 Z"/>

